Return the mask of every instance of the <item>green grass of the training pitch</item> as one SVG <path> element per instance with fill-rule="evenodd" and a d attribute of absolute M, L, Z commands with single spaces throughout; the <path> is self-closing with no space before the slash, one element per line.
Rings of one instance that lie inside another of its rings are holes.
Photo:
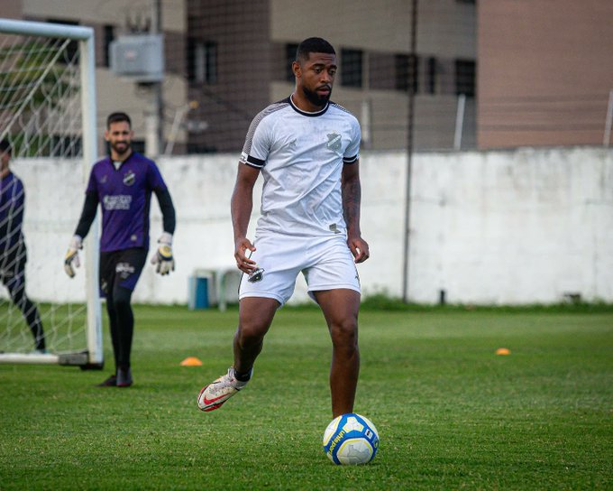
<path fill-rule="evenodd" d="M 135 309 L 130 389 L 110 372 L 0 366 L 0 489 L 612 489 L 613 311 L 361 311 L 355 411 L 371 464 L 334 466 L 330 341 L 284 308 L 252 383 L 215 412 L 237 311 Z M 109 346 L 105 338 L 105 346 Z M 508 347 L 510 356 L 495 355 Z M 203 366 L 179 366 L 188 356 Z"/>

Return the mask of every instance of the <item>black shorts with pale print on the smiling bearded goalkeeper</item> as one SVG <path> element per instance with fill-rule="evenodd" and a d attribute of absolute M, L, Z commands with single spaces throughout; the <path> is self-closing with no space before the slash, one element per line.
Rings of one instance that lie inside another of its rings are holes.
<path fill-rule="evenodd" d="M 133 291 L 147 260 L 147 251 L 133 247 L 100 253 L 100 292 L 103 297 L 116 286 Z"/>

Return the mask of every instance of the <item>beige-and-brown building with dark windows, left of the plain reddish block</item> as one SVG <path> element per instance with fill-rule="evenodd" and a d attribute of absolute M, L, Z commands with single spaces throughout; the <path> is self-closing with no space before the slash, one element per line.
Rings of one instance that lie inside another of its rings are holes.
<path fill-rule="evenodd" d="M 476 9 L 470 0 L 418 2 L 415 52 L 410 0 L 0 0 L 0 5 L 5 17 L 95 29 L 99 134 L 109 112 L 124 110 L 133 116 L 140 150 L 149 131 L 151 87 L 117 76 L 108 48 L 119 36 L 147 32 L 156 5 L 165 58 L 162 153 L 170 146 L 173 153 L 239 151 L 252 117 L 290 94 L 297 43 L 314 35 L 334 44 L 340 69 L 333 100 L 360 119 L 364 148 L 407 147 L 409 89 L 415 91 L 416 150 L 476 144 Z M 463 107 L 460 94 L 466 96 Z"/>

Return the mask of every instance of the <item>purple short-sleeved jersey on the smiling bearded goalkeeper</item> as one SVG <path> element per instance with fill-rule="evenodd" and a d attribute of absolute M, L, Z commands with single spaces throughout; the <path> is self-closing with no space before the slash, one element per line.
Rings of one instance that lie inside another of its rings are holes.
<path fill-rule="evenodd" d="M 110 157 L 96 162 L 86 192 L 95 192 L 102 208 L 100 251 L 149 249 L 151 191 L 166 190 L 155 162 L 133 152 L 115 169 Z"/>

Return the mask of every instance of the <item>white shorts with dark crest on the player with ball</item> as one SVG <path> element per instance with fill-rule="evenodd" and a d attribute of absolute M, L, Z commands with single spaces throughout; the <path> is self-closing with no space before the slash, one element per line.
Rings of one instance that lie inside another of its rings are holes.
<path fill-rule="evenodd" d="M 258 269 L 242 274 L 239 299 L 264 297 L 283 305 L 294 293 L 298 273 L 305 275 L 308 295 L 347 288 L 360 292 L 360 277 L 344 235 L 256 237 L 251 258 Z"/>

